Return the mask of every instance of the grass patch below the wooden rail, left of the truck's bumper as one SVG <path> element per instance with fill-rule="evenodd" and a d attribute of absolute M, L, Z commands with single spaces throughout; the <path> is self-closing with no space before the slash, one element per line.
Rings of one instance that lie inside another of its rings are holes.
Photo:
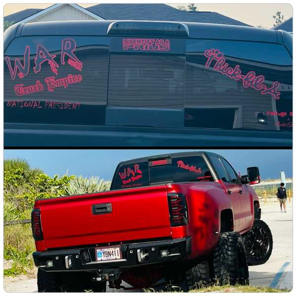
<path fill-rule="evenodd" d="M 4 276 L 26 274 L 34 267 L 32 253 L 35 243 L 31 224 L 4 227 L 4 259 L 12 259 L 12 267 L 4 269 Z"/>

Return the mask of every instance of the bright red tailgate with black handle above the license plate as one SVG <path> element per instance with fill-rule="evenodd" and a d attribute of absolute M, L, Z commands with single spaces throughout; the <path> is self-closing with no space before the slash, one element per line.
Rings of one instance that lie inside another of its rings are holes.
<path fill-rule="evenodd" d="M 171 236 L 165 185 L 42 199 L 35 207 L 47 249 Z"/>

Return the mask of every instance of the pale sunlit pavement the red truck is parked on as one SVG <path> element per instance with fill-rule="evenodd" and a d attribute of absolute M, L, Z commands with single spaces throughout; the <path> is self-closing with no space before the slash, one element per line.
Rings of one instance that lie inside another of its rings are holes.
<path fill-rule="evenodd" d="M 273 235 L 273 251 L 265 264 L 249 266 L 250 284 L 292 289 L 292 203 L 288 204 L 287 213 L 281 213 L 278 204 L 264 205 L 262 203 L 261 209 L 261 219 L 269 225 Z M 4 290 L 6 292 L 37 292 L 36 279 L 27 276 L 4 278 Z M 115 292 L 115 290 L 108 289 L 108 292 Z M 126 291 L 117 290 L 117 292 Z"/>

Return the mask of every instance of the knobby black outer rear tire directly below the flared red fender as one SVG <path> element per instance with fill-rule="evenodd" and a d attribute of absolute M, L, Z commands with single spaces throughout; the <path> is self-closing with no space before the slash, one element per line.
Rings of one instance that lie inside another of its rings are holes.
<path fill-rule="evenodd" d="M 249 285 L 249 268 L 243 239 L 238 232 L 220 235 L 213 255 L 213 281 L 219 285 Z"/>

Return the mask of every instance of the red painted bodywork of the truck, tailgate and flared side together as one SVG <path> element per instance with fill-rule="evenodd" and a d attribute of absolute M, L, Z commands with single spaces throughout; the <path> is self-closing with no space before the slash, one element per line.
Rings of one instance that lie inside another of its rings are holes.
<path fill-rule="evenodd" d="M 248 231 L 254 221 L 255 191 L 237 185 L 227 194 L 222 181 L 176 183 L 113 190 L 36 202 L 40 208 L 43 241 L 37 251 L 89 244 L 191 237 L 189 259 L 209 254 L 217 245 L 222 210 L 234 213 L 234 231 Z M 235 193 L 239 189 L 243 194 Z M 171 227 L 167 193 L 185 194 L 189 222 Z M 112 212 L 93 215 L 92 205 L 111 203 Z M 218 233 L 217 233 L 218 232 Z"/>

